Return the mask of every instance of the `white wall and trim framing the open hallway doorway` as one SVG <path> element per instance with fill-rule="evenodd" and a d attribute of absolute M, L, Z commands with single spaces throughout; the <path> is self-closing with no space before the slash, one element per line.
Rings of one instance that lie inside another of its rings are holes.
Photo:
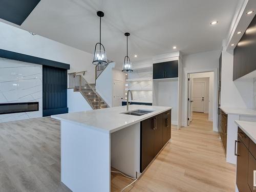
<path fill-rule="evenodd" d="M 182 125 L 187 125 L 187 74 L 197 72 L 214 72 L 213 124 L 217 131 L 217 75 L 221 51 L 208 51 L 183 56 L 183 87 L 182 87 Z"/>

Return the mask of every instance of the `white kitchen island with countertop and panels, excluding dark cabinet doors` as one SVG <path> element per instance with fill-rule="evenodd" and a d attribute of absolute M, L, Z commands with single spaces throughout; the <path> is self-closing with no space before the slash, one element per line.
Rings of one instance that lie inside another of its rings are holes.
<path fill-rule="evenodd" d="M 110 191 L 111 166 L 140 175 L 140 122 L 166 112 L 165 106 L 130 105 L 54 115 L 61 121 L 61 182 L 73 192 Z"/>

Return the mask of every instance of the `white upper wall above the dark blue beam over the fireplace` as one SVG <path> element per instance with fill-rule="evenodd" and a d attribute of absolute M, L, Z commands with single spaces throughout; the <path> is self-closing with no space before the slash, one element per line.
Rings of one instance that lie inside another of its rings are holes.
<path fill-rule="evenodd" d="M 87 70 L 84 77 L 89 83 L 95 83 L 95 66 L 92 64 L 91 53 L 39 35 L 33 36 L 25 30 L 2 22 L 0 22 L 0 29 L 0 49 L 68 63 L 70 64 L 69 72 Z"/>

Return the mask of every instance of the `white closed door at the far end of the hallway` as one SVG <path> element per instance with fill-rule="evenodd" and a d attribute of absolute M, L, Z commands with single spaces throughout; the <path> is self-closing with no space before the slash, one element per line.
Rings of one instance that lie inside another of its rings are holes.
<path fill-rule="evenodd" d="M 204 112 L 204 93 L 205 83 L 194 82 L 193 83 L 193 111 Z"/>

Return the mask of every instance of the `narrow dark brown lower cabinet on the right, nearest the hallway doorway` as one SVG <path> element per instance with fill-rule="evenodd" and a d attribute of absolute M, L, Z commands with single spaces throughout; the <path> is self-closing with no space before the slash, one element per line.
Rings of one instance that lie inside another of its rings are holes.
<path fill-rule="evenodd" d="M 221 110 L 221 115 L 220 115 L 219 134 L 221 137 L 224 151 L 226 153 L 226 151 L 227 151 L 227 114 L 225 114 L 222 110 Z"/>

